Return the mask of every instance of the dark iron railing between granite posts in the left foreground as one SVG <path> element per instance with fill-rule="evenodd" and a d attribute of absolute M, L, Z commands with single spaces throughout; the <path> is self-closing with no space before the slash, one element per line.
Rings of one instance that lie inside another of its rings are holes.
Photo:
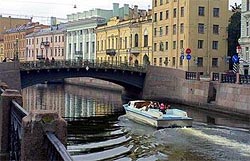
<path fill-rule="evenodd" d="M 0 95 L 5 92 L 0 87 Z M 5 113 L 6 114 L 6 113 Z M 23 125 L 22 121 L 25 116 L 28 116 L 28 112 L 23 109 L 21 105 L 12 99 L 10 102 L 10 127 L 9 127 L 9 152 L 10 160 L 20 161 L 21 160 L 21 148 L 22 148 L 22 137 L 23 137 Z M 2 126 L 2 125 L 1 125 Z M 3 127 L 0 127 L 3 128 Z M 60 142 L 56 135 L 52 132 L 45 132 L 44 146 L 47 147 L 47 160 L 48 161 L 73 161 L 72 157 L 66 150 L 65 146 Z M 24 145 L 25 147 L 25 145 Z M 39 154 L 29 154 L 39 155 Z"/>

